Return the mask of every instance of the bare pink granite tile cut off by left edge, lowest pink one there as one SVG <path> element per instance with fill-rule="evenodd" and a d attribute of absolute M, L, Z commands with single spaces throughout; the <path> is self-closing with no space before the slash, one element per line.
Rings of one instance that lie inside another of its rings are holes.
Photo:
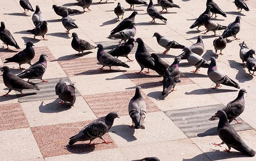
<path fill-rule="evenodd" d="M 0 130 L 29 127 L 20 103 L 0 105 Z"/>

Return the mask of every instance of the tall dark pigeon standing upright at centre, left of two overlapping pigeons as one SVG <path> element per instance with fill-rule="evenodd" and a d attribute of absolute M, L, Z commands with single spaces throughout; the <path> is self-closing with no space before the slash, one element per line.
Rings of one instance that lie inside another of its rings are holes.
<path fill-rule="evenodd" d="M 141 71 L 144 68 L 148 68 L 148 71 L 145 71 L 145 73 L 150 73 L 149 69 L 155 70 L 155 62 L 154 59 L 151 58 L 151 54 L 147 51 L 144 42 L 141 38 L 137 38 L 136 43 L 138 43 L 138 47 L 135 53 L 135 59 L 138 62 L 141 70 L 139 72 L 135 72 L 137 74 L 142 73 Z"/>

